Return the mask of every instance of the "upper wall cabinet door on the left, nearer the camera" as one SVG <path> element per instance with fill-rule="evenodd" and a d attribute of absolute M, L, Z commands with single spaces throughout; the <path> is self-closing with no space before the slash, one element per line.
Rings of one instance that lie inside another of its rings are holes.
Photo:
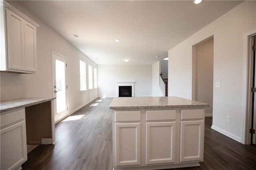
<path fill-rule="evenodd" d="M 6 10 L 7 43 L 8 43 L 8 68 L 25 69 L 24 59 L 24 27 L 23 19 Z"/>

